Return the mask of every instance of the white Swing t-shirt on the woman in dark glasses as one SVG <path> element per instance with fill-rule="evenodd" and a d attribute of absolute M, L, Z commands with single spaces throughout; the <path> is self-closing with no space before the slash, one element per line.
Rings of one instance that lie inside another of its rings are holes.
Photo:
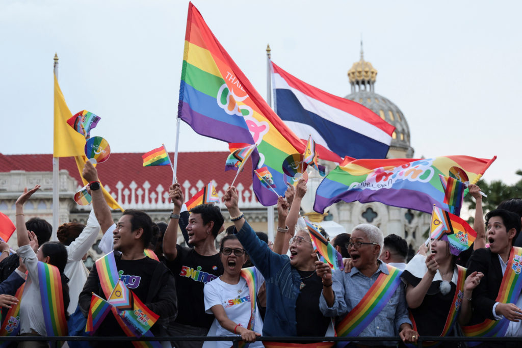
<path fill-rule="evenodd" d="M 205 288 L 203 290 L 205 294 L 205 312 L 212 314 L 212 310 L 210 309 L 212 306 L 222 305 L 230 320 L 241 324 L 244 328 L 248 327 L 248 320 L 250 320 L 252 304 L 250 301 L 250 292 L 248 291 L 246 281 L 241 278 L 238 284 L 232 285 L 223 282 L 220 278 L 221 277 L 216 278 L 205 284 Z M 256 271 L 256 294 L 264 281 L 265 279 L 263 278 L 263 275 L 261 275 L 261 272 Z M 263 332 L 263 321 L 259 315 L 259 309 L 257 308 L 257 305 L 253 331 L 258 333 Z M 234 333 L 227 329 L 223 329 L 221 325 L 219 325 L 218 319 L 214 319 L 212 326 L 208 331 L 208 336 L 234 336 Z M 230 346 L 231 341 L 212 341 L 205 342 L 203 344 L 204 348 L 229 348 Z M 250 347 L 263 347 L 263 343 L 256 341 L 251 343 Z"/>

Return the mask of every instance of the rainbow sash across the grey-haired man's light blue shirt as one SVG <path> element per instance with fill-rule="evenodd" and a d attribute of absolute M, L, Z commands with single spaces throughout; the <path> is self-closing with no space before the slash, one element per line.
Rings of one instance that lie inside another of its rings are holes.
<path fill-rule="evenodd" d="M 357 337 L 388 304 L 400 284 L 402 270 L 386 266 L 389 274 L 381 272 L 361 302 L 338 323 L 336 329 L 339 336 Z M 342 343 L 346 345 L 349 342 Z"/>

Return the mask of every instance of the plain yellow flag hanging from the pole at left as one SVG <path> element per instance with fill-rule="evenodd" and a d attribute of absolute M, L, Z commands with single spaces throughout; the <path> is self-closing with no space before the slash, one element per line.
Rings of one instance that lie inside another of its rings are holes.
<path fill-rule="evenodd" d="M 58 85 L 56 75 L 54 76 L 54 151 L 53 157 L 74 157 L 76 165 L 78 166 L 78 172 L 80 172 L 81 180 L 84 185 L 87 185 L 85 179 L 81 176 L 81 172 L 84 170 L 85 162 L 85 138 L 79 134 L 73 127 L 67 124 L 67 120 L 73 117 L 70 113 L 65 98 Z M 103 197 L 105 201 L 111 207 L 111 209 L 120 209 L 124 211 L 122 207 L 114 200 L 114 198 L 101 187 L 103 191 Z"/>

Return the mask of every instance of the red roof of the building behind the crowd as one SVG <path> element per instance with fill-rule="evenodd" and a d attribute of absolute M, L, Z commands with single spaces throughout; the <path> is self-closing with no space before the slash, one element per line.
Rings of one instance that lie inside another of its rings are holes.
<path fill-rule="evenodd" d="M 145 153 L 145 152 L 143 152 Z M 98 164 L 98 176 L 104 186 L 109 186 L 111 193 L 116 193 L 118 182 L 123 184 L 122 190 L 129 188 L 134 181 L 137 187 L 142 187 L 147 181 L 150 184 L 149 193 L 156 192 L 158 185 L 167 190 L 172 184 L 172 170 L 169 166 L 144 167 L 141 155 L 143 153 L 111 153 L 110 158 Z M 196 184 L 201 181 L 206 184 L 216 182 L 216 189 L 222 191 L 222 185 L 232 183 L 236 171 L 224 172 L 225 162 L 229 152 L 180 152 L 177 159 L 177 179 L 183 184 L 188 181 L 191 186 L 188 190 L 197 189 Z M 171 155 L 173 159 L 173 155 Z M 252 185 L 250 172 L 251 160 L 248 159 L 245 170 L 239 174 L 235 186 L 242 184 L 246 190 Z M 26 172 L 52 172 L 52 154 L 12 154 L 0 153 L 0 172 L 22 170 Z M 67 170 L 69 175 L 81 185 L 80 174 L 74 158 L 60 158 L 60 170 Z M 248 170 L 247 170 L 248 169 Z M 164 194 L 164 192 L 163 192 Z M 192 197 L 192 194 L 189 194 Z M 190 197 L 185 196 L 185 200 Z M 129 198 L 129 201 L 131 198 Z"/>

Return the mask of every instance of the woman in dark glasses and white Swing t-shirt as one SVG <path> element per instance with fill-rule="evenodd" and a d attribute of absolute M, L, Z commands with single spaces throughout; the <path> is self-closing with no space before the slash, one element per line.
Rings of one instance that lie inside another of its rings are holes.
<path fill-rule="evenodd" d="M 263 330 L 256 294 L 265 279 L 255 267 L 242 269 L 248 256 L 235 235 L 221 239 L 219 256 L 224 272 L 205 284 L 203 290 L 205 311 L 216 317 L 207 335 L 241 335 L 251 347 L 262 347 L 262 342 L 255 342 Z M 208 341 L 203 347 L 229 348 L 230 345 L 230 341 Z"/>

